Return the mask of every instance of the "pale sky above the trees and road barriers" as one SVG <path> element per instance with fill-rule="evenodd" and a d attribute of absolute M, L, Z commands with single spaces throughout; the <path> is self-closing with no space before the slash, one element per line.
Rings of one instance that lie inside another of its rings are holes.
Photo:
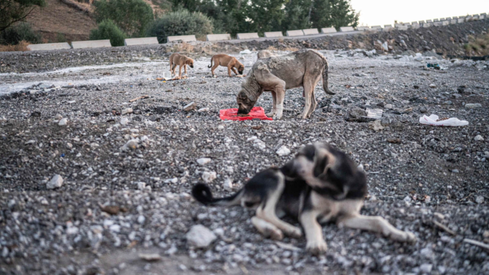
<path fill-rule="evenodd" d="M 394 25 L 453 16 L 489 14 L 489 0 L 351 0 L 359 25 Z"/>

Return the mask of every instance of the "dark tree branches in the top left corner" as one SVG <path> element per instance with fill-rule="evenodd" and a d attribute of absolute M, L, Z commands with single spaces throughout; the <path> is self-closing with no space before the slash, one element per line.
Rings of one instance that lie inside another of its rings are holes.
<path fill-rule="evenodd" d="M 0 0 L 0 31 L 13 23 L 25 19 L 38 7 L 44 7 L 44 0 Z"/>

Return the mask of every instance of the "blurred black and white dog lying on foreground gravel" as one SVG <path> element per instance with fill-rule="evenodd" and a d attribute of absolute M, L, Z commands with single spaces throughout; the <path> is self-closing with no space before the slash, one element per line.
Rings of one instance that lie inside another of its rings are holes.
<path fill-rule="evenodd" d="M 366 194 L 366 176 L 355 162 L 323 143 L 305 146 L 281 168 L 259 172 L 230 197 L 213 198 L 205 184 L 192 189 L 192 195 L 204 205 L 255 209 L 252 224 L 273 239 L 282 239 L 284 234 L 300 237 L 301 229 L 279 219 L 286 214 L 296 218 L 306 234 L 306 249 L 314 254 L 326 251 L 321 224 L 332 221 L 400 242 L 416 240 L 414 234 L 396 229 L 382 217 L 360 215 Z"/>

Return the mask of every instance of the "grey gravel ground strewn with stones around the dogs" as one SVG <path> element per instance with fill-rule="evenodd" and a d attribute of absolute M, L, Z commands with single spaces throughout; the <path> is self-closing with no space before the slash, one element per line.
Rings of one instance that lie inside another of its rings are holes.
<path fill-rule="evenodd" d="M 156 80 L 168 76 L 163 53 L 1 73 L 0 274 L 488 274 L 489 250 L 464 239 L 489 244 L 489 64 L 452 63 L 430 52 L 322 52 L 337 94 L 318 85 L 319 106 L 307 120 L 295 118 L 302 89 L 287 92 L 282 120 L 220 120 L 220 109 L 236 107 L 243 79 L 227 77 L 223 67 L 212 78 L 205 54 L 193 56 L 187 79 L 169 82 Z M 234 56 L 245 72 L 256 60 L 255 53 Z M 183 111 L 190 102 L 196 108 Z M 257 106 L 268 111 L 270 94 Z M 132 113 L 121 115 L 128 108 Z M 382 109 L 384 129 L 356 121 L 366 108 Z M 423 114 L 469 124 L 422 125 Z M 304 238 L 264 239 L 248 210 L 204 207 L 189 195 L 202 179 L 217 196 L 230 194 L 318 140 L 366 170 L 361 213 L 413 232 L 416 244 L 327 225 L 329 249 L 314 257 Z M 282 145 L 290 155 L 275 153 Z M 60 187 L 55 175 L 64 180 Z M 199 224 L 217 236 L 202 249 L 185 235 Z"/>

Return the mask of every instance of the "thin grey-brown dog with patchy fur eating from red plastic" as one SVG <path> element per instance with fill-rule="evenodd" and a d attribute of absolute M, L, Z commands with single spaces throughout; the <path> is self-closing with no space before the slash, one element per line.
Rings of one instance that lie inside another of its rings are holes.
<path fill-rule="evenodd" d="M 248 114 L 262 92 L 270 91 L 273 107 L 267 116 L 281 119 L 285 90 L 304 87 L 304 112 L 297 117 L 310 117 L 317 104 L 314 87 L 321 76 L 324 92 L 334 94 L 328 89 L 328 62 L 320 52 L 313 49 L 259 59 L 241 83 L 241 89 L 236 96 L 238 114 Z"/>

